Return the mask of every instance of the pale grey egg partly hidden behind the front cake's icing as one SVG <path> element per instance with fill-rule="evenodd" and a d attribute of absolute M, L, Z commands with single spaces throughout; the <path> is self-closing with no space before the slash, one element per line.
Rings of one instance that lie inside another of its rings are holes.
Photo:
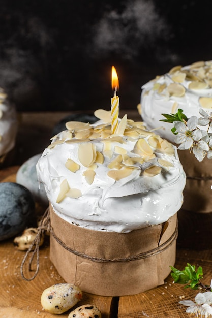
<path fill-rule="evenodd" d="M 48 199 L 42 183 L 39 184 L 36 164 L 41 157 L 41 153 L 29 158 L 18 169 L 16 182 L 25 186 L 32 193 L 34 200 L 44 205 L 48 205 Z"/>

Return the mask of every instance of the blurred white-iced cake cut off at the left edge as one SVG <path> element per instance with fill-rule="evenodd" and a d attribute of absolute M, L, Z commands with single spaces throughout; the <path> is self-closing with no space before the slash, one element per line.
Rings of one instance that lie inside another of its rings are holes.
<path fill-rule="evenodd" d="M 0 88 L 0 165 L 15 146 L 17 116 L 15 107 L 8 102 L 7 94 Z"/>

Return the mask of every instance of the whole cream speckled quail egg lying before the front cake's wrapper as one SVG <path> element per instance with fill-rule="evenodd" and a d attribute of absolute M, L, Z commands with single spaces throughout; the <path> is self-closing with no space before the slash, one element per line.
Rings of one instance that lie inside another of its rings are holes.
<path fill-rule="evenodd" d="M 45 289 L 41 295 L 43 308 L 54 314 L 62 314 L 82 299 L 82 291 L 73 284 L 60 283 Z"/>

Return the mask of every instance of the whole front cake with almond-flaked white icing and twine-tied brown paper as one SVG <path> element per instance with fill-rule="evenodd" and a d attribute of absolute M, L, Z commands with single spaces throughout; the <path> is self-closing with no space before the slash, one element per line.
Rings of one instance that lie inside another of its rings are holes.
<path fill-rule="evenodd" d="M 86 292 L 120 296 L 163 284 L 175 262 L 185 173 L 176 147 L 125 115 L 67 122 L 37 163 L 50 202 L 50 259 Z M 95 283 L 94 283 L 95 282 Z"/>

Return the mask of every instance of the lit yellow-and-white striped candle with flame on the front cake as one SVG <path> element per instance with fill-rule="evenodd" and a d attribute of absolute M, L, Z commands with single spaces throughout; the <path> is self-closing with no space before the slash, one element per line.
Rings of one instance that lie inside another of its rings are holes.
<path fill-rule="evenodd" d="M 117 89 L 119 88 L 118 76 L 114 66 L 112 66 L 112 89 L 114 89 L 114 96 L 111 98 L 111 134 L 115 134 L 118 126 L 119 115 L 119 97 L 116 96 Z"/>

